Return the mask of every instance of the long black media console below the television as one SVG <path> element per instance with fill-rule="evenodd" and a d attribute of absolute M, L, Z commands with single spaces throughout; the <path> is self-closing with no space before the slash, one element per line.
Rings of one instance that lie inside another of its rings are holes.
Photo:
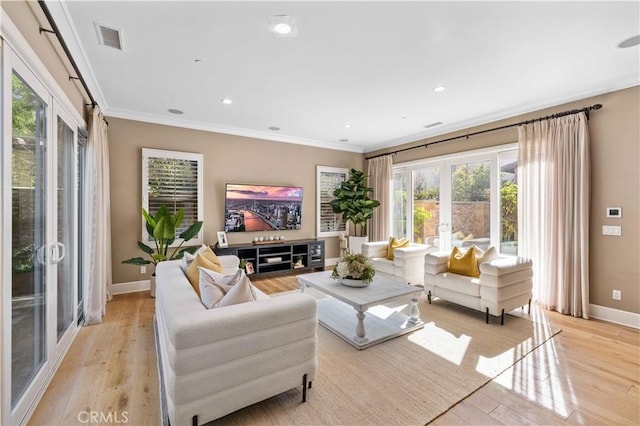
<path fill-rule="evenodd" d="M 323 240 L 292 240 L 212 247 L 217 255 L 233 254 L 251 262 L 256 275 L 324 269 Z"/>

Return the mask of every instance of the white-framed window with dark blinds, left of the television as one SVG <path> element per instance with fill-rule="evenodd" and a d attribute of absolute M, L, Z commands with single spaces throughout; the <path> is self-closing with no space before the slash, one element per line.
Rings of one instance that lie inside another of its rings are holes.
<path fill-rule="evenodd" d="M 142 149 L 142 207 L 151 215 L 166 205 L 171 213 L 184 210 L 177 236 L 202 220 L 202 154 Z M 143 219 L 142 241 L 151 243 Z M 179 242 L 176 242 L 179 243 Z M 202 231 L 190 244 L 202 244 Z"/>

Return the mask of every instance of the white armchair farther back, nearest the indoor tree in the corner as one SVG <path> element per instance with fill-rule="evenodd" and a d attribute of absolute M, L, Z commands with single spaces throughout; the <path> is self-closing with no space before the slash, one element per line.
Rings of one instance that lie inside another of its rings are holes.
<path fill-rule="evenodd" d="M 422 284 L 424 280 L 424 256 L 436 248 L 424 244 L 411 244 L 394 250 L 393 260 L 387 259 L 389 241 L 362 244 L 362 254 L 373 264 L 376 273 L 401 278 L 408 284 Z"/>

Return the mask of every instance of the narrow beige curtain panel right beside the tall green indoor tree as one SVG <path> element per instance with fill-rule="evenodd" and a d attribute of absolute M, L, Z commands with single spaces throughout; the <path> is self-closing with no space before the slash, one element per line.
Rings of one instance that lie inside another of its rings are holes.
<path fill-rule="evenodd" d="M 369 186 L 373 188 L 373 199 L 380 201 L 369 221 L 369 241 L 388 240 L 391 232 L 391 181 L 393 180 L 392 155 L 383 155 L 368 160 Z"/>

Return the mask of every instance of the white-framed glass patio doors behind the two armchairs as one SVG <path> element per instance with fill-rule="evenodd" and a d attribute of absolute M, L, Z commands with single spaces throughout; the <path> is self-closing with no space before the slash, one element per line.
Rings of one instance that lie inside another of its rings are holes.
<path fill-rule="evenodd" d="M 517 150 L 501 147 L 394 168 L 393 235 L 517 251 Z"/>

